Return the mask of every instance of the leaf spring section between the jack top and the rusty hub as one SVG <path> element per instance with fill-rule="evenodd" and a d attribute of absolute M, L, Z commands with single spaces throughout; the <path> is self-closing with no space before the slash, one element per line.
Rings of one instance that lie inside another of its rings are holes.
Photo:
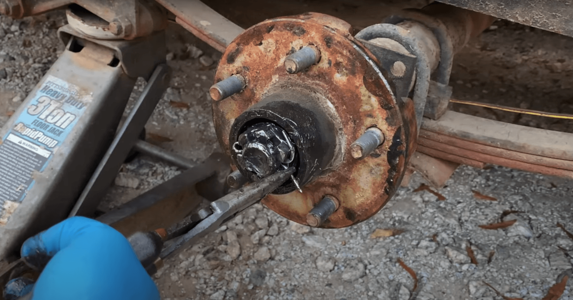
<path fill-rule="evenodd" d="M 157 2 L 175 14 L 177 23 L 220 52 L 244 31 L 199 0 Z"/>

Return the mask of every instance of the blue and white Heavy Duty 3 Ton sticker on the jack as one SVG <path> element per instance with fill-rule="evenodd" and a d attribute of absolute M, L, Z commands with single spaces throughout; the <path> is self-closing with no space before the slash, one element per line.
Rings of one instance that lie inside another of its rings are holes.
<path fill-rule="evenodd" d="M 5 225 L 77 124 L 92 94 L 48 75 L 0 144 L 0 226 Z"/>

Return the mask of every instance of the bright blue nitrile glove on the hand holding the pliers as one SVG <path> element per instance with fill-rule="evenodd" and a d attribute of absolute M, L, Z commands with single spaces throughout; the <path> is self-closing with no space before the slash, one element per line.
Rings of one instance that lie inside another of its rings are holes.
<path fill-rule="evenodd" d="M 51 257 L 32 300 L 159 300 L 159 291 L 127 239 L 96 220 L 73 217 L 23 243 L 22 258 Z"/>

